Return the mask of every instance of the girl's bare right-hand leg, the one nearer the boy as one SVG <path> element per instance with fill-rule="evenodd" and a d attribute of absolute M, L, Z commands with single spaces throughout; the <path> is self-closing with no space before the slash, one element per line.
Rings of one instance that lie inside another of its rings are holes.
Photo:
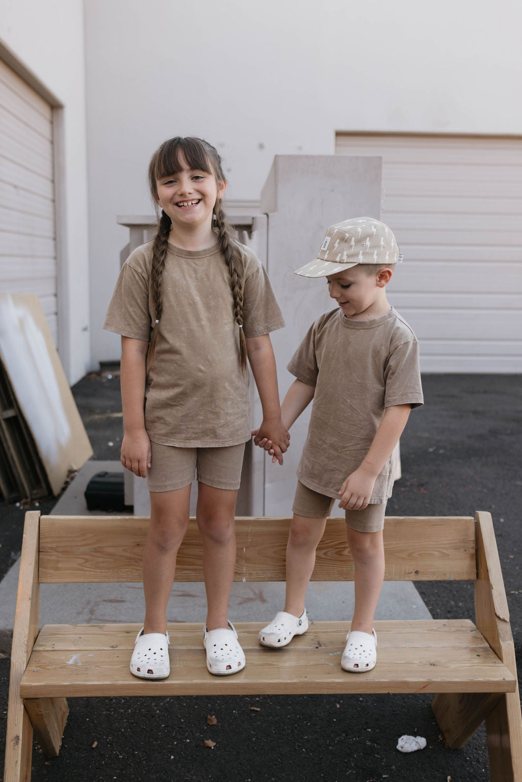
<path fill-rule="evenodd" d="M 228 626 L 229 597 L 236 565 L 234 516 L 237 490 L 198 483 L 196 519 L 203 538 L 207 630 Z"/>

